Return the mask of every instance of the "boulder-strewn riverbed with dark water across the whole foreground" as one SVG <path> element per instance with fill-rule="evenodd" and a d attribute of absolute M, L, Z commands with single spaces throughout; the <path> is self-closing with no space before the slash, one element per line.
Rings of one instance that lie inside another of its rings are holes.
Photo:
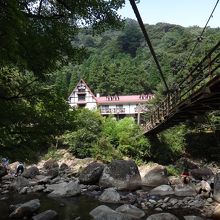
<path fill-rule="evenodd" d="M 220 219 L 218 168 L 192 166 L 190 171 L 195 182 L 183 184 L 159 164 L 41 161 L 18 177 L 0 172 L 0 211 L 5 210 L 3 219 Z M 198 194 L 201 177 L 214 178 L 213 193 Z"/>

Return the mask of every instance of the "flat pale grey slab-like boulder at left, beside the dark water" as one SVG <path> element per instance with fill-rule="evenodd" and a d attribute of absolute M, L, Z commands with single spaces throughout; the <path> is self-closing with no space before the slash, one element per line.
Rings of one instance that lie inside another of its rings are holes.
<path fill-rule="evenodd" d="M 48 195 L 49 197 L 72 197 L 81 193 L 81 188 L 77 181 L 54 185 L 56 185 L 56 187 L 53 192 Z"/>

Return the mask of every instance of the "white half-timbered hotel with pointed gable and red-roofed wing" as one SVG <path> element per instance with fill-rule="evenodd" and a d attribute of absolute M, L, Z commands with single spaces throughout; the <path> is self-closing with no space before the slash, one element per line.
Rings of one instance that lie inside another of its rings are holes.
<path fill-rule="evenodd" d="M 92 93 L 84 80 L 80 80 L 68 98 L 71 107 L 84 107 L 99 110 L 102 115 L 115 115 L 117 118 L 125 116 L 138 117 L 146 112 L 144 104 L 154 97 L 153 94 L 126 96 L 96 96 Z"/>

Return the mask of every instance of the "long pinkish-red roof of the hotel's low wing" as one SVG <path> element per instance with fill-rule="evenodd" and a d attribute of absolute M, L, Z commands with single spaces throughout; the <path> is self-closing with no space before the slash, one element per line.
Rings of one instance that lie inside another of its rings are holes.
<path fill-rule="evenodd" d="M 126 95 L 126 96 L 101 96 L 96 97 L 97 103 L 100 104 L 120 104 L 120 103 L 145 103 L 152 99 L 154 95 Z"/>

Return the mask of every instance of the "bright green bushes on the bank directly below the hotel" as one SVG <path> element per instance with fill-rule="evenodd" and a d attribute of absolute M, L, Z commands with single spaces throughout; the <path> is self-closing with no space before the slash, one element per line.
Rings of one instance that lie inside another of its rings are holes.
<path fill-rule="evenodd" d="M 106 162 L 123 156 L 137 160 L 150 156 L 150 145 L 133 118 L 104 119 L 86 109 L 77 110 L 75 117 L 74 131 L 63 135 L 64 144 L 74 155 Z"/>

